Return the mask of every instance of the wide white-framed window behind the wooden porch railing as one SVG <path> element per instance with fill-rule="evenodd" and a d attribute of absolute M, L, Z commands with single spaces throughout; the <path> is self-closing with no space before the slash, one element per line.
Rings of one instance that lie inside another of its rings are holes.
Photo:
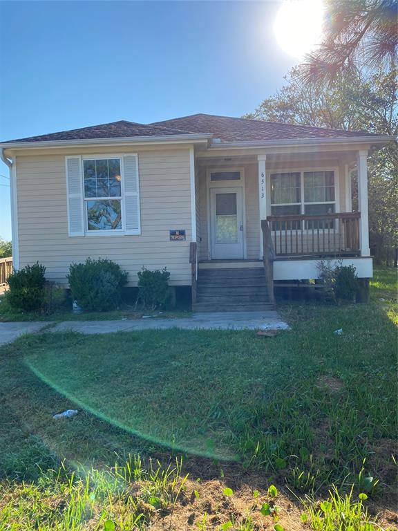
<path fill-rule="evenodd" d="M 295 214 L 332 214 L 336 207 L 334 171 L 294 171 L 271 174 L 271 213 L 273 216 Z M 306 229 L 333 228 L 334 221 L 305 221 Z M 273 230 L 295 230 L 300 221 L 274 222 Z"/>

